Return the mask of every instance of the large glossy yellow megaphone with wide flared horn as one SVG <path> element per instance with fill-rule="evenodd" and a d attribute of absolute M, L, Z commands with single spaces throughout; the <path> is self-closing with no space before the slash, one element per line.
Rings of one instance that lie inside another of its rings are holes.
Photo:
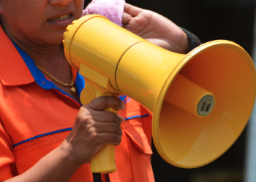
<path fill-rule="evenodd" d="M 255 65 L 231 41 L 210 41 L 183 55 L 106 17 L 86 15 L 67 27 L 64 52 L 86 78 L 81 102 L 120 92 L 137 100 L 153 114 L 157 151 L 177 167 L 200 167 L 221 156 L 244 130 L 255 103 Z M 114 156 L 114 146 L 105 146 L 91 160 L 91 171 L 115 171 Z"/>

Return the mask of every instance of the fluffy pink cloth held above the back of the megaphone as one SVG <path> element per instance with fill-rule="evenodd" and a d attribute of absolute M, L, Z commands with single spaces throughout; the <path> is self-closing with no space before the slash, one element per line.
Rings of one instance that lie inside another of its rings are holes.
<path fill-rule="evenodd" d="M 93 0 L 83 10 L 83 15 L 97 14 L 108 17 L 110 21 L 122 26 L 124 15 L 124 0 Z"/>

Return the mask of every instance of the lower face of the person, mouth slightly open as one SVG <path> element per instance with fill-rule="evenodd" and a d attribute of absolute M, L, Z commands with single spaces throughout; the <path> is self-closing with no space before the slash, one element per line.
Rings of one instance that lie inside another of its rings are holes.
<path fill-rule="evenodd" d="M 0 0 L 4 29 L 25 44 L 61 44 L 67 25 L 82 16 L 83 0 Z"/>

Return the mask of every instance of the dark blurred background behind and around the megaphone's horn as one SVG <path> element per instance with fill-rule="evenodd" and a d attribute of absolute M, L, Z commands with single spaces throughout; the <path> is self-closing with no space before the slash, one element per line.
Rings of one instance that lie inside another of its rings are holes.
<path fill-rule="evenodd" d="M 235 41 L 256 58 L 256 0 L 127 0 L 127 3 L 164 15 L 195 33 L 203 43 L 217 39 Z M 152 166 L 156 181 L 256 182 L 256 121 L 253 120 L 256 114 L 222 157 L 197 169 L 167 164 L 153 145 Z"/>

